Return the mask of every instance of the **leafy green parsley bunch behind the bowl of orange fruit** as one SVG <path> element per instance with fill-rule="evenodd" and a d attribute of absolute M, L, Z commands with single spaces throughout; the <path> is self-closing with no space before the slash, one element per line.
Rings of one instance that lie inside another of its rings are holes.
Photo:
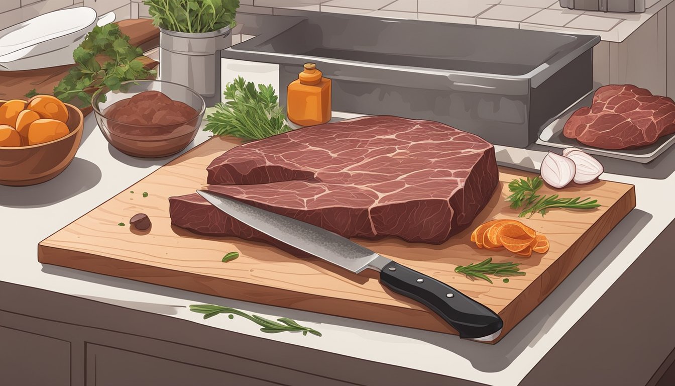
<path fill-rule="evenodd" d="M 110 59 L 99 64 L 99 54 Z M 142 50 L 129 44 L 117 24 L 95 26 L 73 51 L 76 66 L 54 88 L 54 96 L 83 108 L 91 105 L 91 95 L 101 87 L 118 90 L 127 80 L 155 78 L 157 72 L 146 70 L 137 59 L 141 55 Z"/>

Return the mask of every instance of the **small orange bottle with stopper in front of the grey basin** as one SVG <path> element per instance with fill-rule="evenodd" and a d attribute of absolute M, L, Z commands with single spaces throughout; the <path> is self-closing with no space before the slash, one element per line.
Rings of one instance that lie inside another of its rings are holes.
<path fill-rule="evenodd" d="M 331 120 L 331 80 L 322 75 L 316 64 L 306 63 L 288 85 L 286 112 L 291 122 L 312 126 Z"/>

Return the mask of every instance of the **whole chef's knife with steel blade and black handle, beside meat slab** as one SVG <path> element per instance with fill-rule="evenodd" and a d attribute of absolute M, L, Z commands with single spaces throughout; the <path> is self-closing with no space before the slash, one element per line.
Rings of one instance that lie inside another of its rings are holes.
<path fill-rule="evenodd" d="M 439 314 L 460 337 L 491 341 L 502 331 L 502 318 L 460 291 L 402 266 L 319 226 L 250 206 L 236 199 L 197 191 L 219 210 L 274 239 L 354 273 L 380 272 L 380 282 Z"/>

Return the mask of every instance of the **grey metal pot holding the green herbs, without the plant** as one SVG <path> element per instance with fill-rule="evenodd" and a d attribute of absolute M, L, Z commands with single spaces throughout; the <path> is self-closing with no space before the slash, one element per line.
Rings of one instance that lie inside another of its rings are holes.
<path fill-rule="evenodd" d="M 221 50 L 232 45 L 229 27 L 188 33 L 160 28 L 159 78 L 190 87 L 212 107 L 221 101 Z"/>

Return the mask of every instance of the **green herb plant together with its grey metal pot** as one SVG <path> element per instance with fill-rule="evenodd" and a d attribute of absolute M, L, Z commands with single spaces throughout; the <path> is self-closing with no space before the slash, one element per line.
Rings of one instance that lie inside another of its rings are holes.
<path fill-rule="evenodd" d="M 159 26 L 159 78 L 221 100 L 220 51 L 232 45 L 239 0 L 145 0 Z"/>

